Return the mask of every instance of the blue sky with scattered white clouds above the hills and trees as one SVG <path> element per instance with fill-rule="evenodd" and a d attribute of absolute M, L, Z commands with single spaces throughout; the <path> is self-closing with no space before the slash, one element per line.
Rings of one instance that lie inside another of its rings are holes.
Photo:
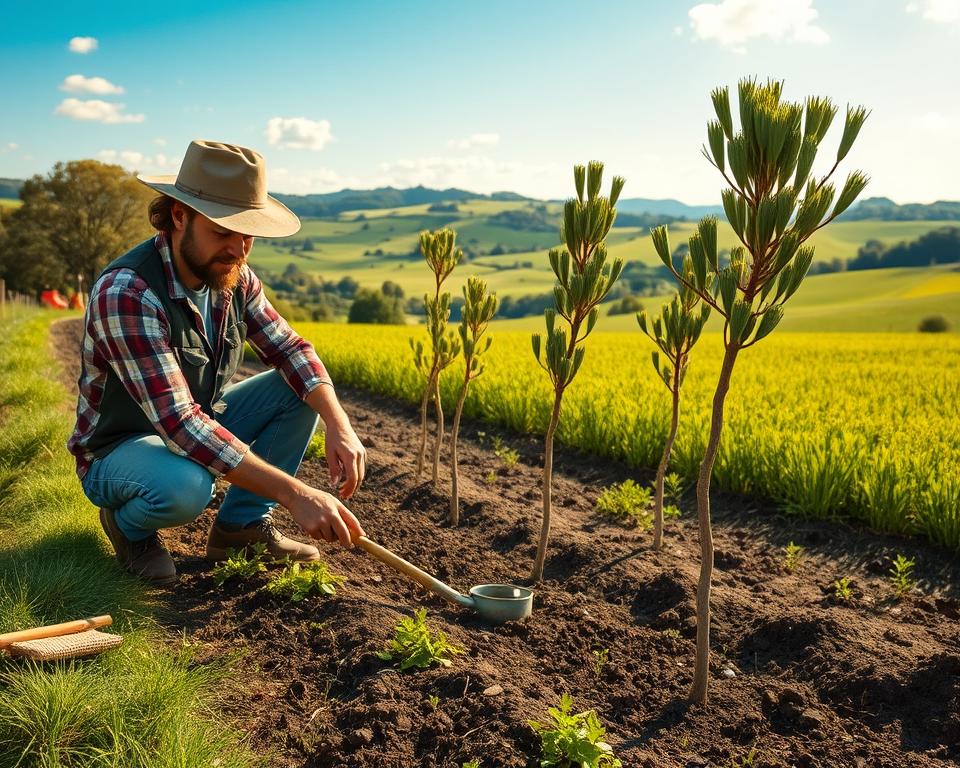
<path fill-rule="evenodd" d="M 628 197 L 715 203 L 710 90 L 756 75 L 873 110 L 846 161 L 866 194 L 960 199 L 960 0 L 5 1 L 3 16 L 0 176 L 85 157 L 173 173 L 204 138 L 261 151 L 277 192 L 561 198 L 571 166 L 599 159 Z"/>

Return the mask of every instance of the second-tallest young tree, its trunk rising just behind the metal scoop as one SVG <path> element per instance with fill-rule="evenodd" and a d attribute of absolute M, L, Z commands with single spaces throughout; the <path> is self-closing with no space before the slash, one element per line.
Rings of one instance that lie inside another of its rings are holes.
<path fill-rule="evenodd" d="M 559 281 L 553 288 L 556 307 L 544 313 L 545 343 L 540 334 L 533 336 L 533 354 L 553 383 L 553 410 L 547 427 L 543 463 L 543 524 L 537 559 L 530 576 L 534 582 L 543 578 L 543 563 L 550 538 L 553 437 L 560 420 L 563 393 L 583 363 L 583 341 L 597 324 L 598 305 L 606 298 L 623 269 L 620 259 L 607 263 L 604 241 L 617 216 L 615 206 L 624 180 L 614 176 L 610 196 L 603 197 L 600 194 L 603 163 L 597 162 L 590 163 L 587 168 L 575 166 L 573 179 L 577 196 L 564 204 L 560 226 L 564 247 L 551 249 L 549 254 L 550 266 Z"/>

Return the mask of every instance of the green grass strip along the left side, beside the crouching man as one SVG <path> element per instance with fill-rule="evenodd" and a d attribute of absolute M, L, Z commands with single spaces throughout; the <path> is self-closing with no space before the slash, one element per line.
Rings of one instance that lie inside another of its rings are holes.
<path fill-rule="evenodd" d="M 197 664 L 165 636 L 112 557 L 65 448 L 72 398 L 47 337 L 62 313 L 0 323 L 0 632 L 97 614 L 123 635 L 90 659 L 0 659 L 0 765 L 261 765 L 219 713 L 228 663 Z"/>

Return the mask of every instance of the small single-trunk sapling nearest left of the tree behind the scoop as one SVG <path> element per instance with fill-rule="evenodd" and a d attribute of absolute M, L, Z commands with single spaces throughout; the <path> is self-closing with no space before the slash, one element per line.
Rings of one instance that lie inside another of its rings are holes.
<path fill-rule="evenodd" d="M 487 293 L 487 283 L 479 277 L 467 278 L 463 286 L 463 315 L 460 318 L 460 346 L 463 348 L 464 376 L 457 409 L 453 414 L 453 426 L 450 434 L 450 524 L 460 524 L 459 473 L 457 471 L 457 435 L 460 432 L 460 416 L 467 399 L 470 382 L 483 373 L 484 365 L 480 357 L 490 349 L 493 337 L 487 336 L 481 343 L 487 326 L 497 312 L 497 296 Z"/>

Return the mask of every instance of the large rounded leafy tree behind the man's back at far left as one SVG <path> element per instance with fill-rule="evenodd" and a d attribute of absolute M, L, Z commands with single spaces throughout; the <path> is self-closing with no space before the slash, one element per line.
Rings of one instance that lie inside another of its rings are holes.
<path fill-rule="evenodd" d="M 118 165 L 57 163 L 28 179 L 23 205 L 9 214 L 0 275 L 20 291 L 67 289 L 77 275 L 89 289 L 113 258 L 153 233 L 146 207 L 154 196 Z"/>

